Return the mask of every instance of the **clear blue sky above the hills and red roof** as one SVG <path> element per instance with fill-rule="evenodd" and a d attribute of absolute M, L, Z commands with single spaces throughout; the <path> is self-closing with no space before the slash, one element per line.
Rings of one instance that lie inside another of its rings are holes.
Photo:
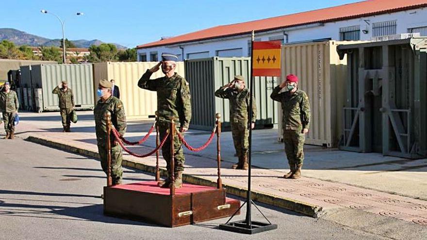
<path fill-rule="evenodd" d="M 70 40 L 99 39 L 132 48 L 162 36 L 315 10 L 360 0 L 0 0 L 0 28 Z M 83 16 L 76 16 L 83 12 Z"/>

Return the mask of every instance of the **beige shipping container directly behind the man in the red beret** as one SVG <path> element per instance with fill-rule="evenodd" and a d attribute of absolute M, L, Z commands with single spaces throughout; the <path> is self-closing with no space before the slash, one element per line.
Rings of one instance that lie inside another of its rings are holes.
<path fill-rule="evenodd" d="M 309 96 L 311 124 L 306 144 L 336 147 L 342 135 L 347 60 L 339 59 L 337 46 L 357 42 L 310 42 L 281 47 L 281 77 L 295 74 L 298 88 Z M 279 141 L 283 140 L 279 107 Z"/>

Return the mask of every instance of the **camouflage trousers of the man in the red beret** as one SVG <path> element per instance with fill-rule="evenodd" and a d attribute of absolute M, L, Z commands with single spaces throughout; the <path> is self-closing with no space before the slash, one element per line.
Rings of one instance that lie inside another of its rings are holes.
<path fill-rule="evenodd" d="M 304 161 L 305 134 L 301 133 L 301 130 L 284 130 L 283 142 L 285 143 L 285 152 L 289 165 L 302 165 Z"/>

